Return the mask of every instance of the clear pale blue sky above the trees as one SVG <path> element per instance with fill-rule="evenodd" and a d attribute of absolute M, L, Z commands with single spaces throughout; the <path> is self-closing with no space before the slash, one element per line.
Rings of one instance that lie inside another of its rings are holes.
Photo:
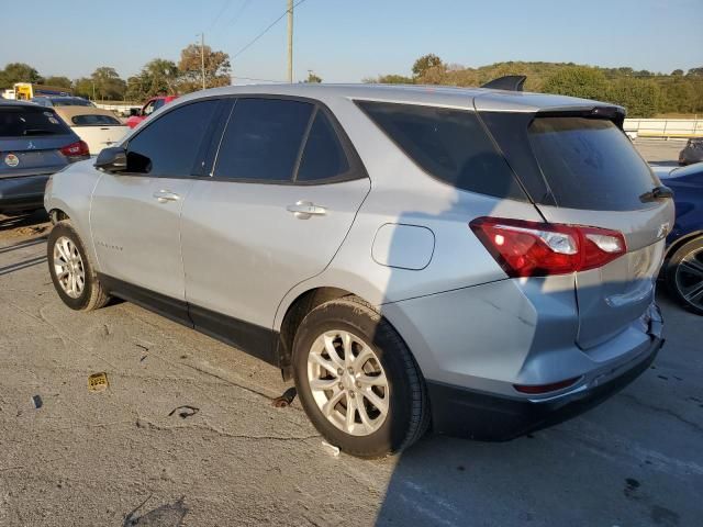
<path fill-rule="evenodd" d="M 111 66 L 126 78 L 155 57 L 178 61 L 204 32 L 205 44 L 230 54 L 237 80 L 286 78 L 286 18 L 238 54 L 286 12 L 286 0 L 2 3 L 0 68 L 22 61 L 74 79 Z M 294 12 L 295 80 L 308 70 L 327 82 L 410 75 L 427 53 L 471 67 L 703 66 L 703 0 L 303 0 Z"/>

